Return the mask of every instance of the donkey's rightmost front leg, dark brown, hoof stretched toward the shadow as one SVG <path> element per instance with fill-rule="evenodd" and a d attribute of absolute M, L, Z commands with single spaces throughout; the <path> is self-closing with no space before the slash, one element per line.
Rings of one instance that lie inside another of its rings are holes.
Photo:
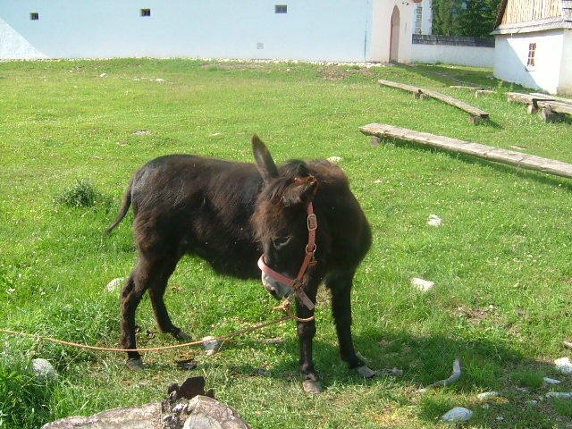
<path fill-rule="evenodd" d="M 348 273 L 328 282 L 332 290 L 332 315 L 336 324 L 338 341 L 340 342 L 341 360 L 348 363 L 349 368 L 366 378 L 375 376 L 364 362 L 357 357 L 354 341 L 351 337 L 351 286 L 353 273 Z"/>

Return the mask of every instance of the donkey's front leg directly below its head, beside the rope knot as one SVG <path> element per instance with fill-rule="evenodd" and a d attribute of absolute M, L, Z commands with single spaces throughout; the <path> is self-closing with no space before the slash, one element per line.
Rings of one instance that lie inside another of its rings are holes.
<path fill-rule="evenodd" d="M 317 288 L 307 290 L 307 297 L 315 303 Z M 299 299 L 296 299 L 296 315 L 301 319 L 314 316 L 314 310 L 308 309 Z M 308 393 L 320 393 L 322 384 L 315 374 L 314 361 L 312 360 L 312 341 L 315 335 L 315 320 L 310 322 L 298 322 L 298 337 L 300 344 L 299 370 L 304 375 L 304 391 Z"/>

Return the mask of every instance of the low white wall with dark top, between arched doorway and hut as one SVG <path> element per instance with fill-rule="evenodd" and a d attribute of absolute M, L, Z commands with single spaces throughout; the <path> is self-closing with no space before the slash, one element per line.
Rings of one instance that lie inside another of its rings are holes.
<path fill-rule="evenodd" d="M 492 67 L 494 47 L 455 45 L 412 45 L 411 61 Z"/>

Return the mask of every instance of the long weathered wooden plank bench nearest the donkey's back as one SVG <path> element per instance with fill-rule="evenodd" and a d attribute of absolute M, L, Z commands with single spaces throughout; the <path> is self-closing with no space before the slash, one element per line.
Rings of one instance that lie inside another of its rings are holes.
<path fill-rule="evenodd" d="M 360 127 L 359 130 L 364 134 L 377 136 L 382 139 L 394 138 L 412 141 L 422 145 L 450 150 L 452 152 L 478 156 L 479 158 L 488 159 L 489 161 L 516 165 L 517 167 L 526 168 L 528 170 L 572 178 L 572 164 L 543 158 L 542 156 L 528 155 L 514 150 L 481 145 L 471 141 L 451 139 L 450 137 L 437 136 L 429 134 L 428 132 L 408 130 L 407 128 L 395 127 L 385 123 L 370 123 L 369 125 Z"/>

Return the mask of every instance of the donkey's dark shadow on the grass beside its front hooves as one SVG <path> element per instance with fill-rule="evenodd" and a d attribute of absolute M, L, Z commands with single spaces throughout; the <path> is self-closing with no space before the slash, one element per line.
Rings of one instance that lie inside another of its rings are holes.
<path fill-rule="evenodd" d="M 319 330 L 319 326 L 318 326 Z M 383 342 L 380 340 L 383 338 Z M 545 362 L 526 357 L 509 347 L 484 339 L 453 338 L 451 335 L 415 336 L 410 332 L 379 332 L 374 329 L 354 335 L 356 349 L 367 359 L 367 365 L 374 370 L 397 367 L 403 370 L 401 376 L 379 375 L 374 379 L 366 379 L 341 362 L 337 345 L 334 342 L 314 341 L 314 358 L 317 373 L 320 375 L 324 389 L 336 386 L 361 386 L 363 388 L 386 385 L 398 386 L 403 395 L 395 395 L 396 389 L 388 387 L 387 394 L 397 400 L 403 407 L 412 403 L 419 405 L 417 417 L 426 422 L 435 423 L 446 411 L 463 405 L 475 411 L 472 421 L 478 420 L 479 427 L 552 427 L 551 406 L 545 413 L 539 409 L 532 411 L 526 406 L 527 400 L 535 400 L 540 388 L 519 383 L 513 376 L 517 369 L 535 371 L 545 376 L 555 376 L 555 370 Z M 233 347 L 233 346 L 231 346 Z M 280 347 L 287 354 L 273 366 L 263 370 L 246 363 L 230 365 L 227 368 L 240 377 L 265 376 L 282 382 L 298 380 L 298 341 L 291 339 L 279 345 L 260 347 Z M 459 358 L 462 362 L 462 375 L 458 382 L 446 388 L 435 389 L 425 394 L 418 389 L 450 376 L 452 362 Z M 215 369 L 213 367 L 213 369 Z M 528 391 L 519 391 L 518 388 Z M 300 385 L 301 389 L 301 385 Z M 458 398 L 451 391 L 465 395 L 468 399 L 456 402 Z M 483 408 L 484 401 L 476 398 L 476 393 L 484 391 L 500 391 L 504 400 L 492 400 L 491 408 Z M 449 393 L 448 393 L 449 392 Z M 508 399 L 508 400 L 507 400 Z M 519 407 L 521 404 L 522 407 Z M 506 424 L 499 426 L 495 416 L 504 413 Z M 524 419 L 520 425 L 519 419 Z"/>

